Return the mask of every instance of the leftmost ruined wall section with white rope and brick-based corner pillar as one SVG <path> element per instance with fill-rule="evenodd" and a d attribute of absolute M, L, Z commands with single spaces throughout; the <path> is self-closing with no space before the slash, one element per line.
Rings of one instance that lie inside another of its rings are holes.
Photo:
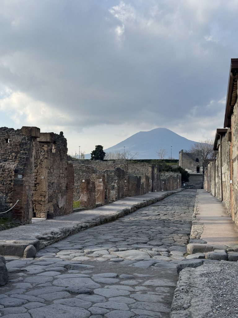
<path fill-rule="evenodd" d="M 16 222 L 31 223 L 36 139 L 40 129 L 0 128 L 0 212 Z"/>

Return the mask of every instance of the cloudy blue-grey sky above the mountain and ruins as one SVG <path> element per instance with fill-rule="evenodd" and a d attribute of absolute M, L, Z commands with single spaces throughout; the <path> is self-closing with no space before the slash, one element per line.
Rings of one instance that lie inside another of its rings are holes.
<path fill-rule="evenodd" d="M 0 127 L 63 131 L 69 154 L 158 127 L 214 138 L 237 13 L 237 0 L 1 0 Z"/>

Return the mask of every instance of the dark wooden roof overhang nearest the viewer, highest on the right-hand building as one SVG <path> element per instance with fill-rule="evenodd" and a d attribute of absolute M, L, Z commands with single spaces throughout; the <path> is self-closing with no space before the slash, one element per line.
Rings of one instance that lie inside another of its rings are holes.
<path fill-rule="evenodd" d="M 231 115 L 237 100 L 238 59 L 231 59 L 231 67 L 228 80 L 227 100 L 224 128 L 231 127 Z"/>

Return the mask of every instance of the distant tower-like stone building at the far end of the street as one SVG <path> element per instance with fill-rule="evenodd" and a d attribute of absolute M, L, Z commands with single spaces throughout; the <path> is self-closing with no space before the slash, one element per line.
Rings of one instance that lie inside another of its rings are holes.
<path fill-rule="evenodd" d="M 179 152 L 179 166 L 189 172 L 189 182 L 182 184 L 191 189 L 203 188 L 204 163 L 202 151 L 181 150 Z"/>

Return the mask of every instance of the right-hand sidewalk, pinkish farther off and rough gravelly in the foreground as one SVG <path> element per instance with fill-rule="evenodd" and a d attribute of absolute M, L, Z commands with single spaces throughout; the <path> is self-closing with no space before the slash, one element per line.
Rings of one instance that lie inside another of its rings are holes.
<path fill-rule="evenodd" d="M 197 190 L 193 217 L 191 255 L 183 261 L 191 264 L 179 274 L 170 318 L 238 317 L 238 229 L 205 190 Z"/>

